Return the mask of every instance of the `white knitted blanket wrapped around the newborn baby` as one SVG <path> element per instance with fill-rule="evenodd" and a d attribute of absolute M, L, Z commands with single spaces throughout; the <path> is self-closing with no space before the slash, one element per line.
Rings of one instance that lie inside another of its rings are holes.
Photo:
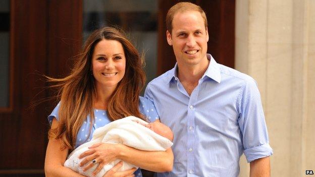
<path fill-rule="evenodd" d="M 65 161 L 64 166 L 85 176 L 93 176 L 92 172 L 96 169 L 97 164 L 90 169 L 83 171 L 87 164 L 80 167 L 80 162 L 83 158 L 79 159 L 79 155 L 87 151 L 88 147 L 100 142 L 110 144 L 120 143 L 144 151 L 165 151 L 173 145 L 169 139 L 153 132 L 147 128 L 149 126 L 145 127 L 145 125 L 148 125 L 148 123 L 135 116 L 128 116 L 96 129 L 93 133 L 92 140 L 73 150 Z M 121 160 L 117 159 L 104 165 L 100 172 L 95 176 L 103 176 L 119 161 Z M 137 166 L 124 162 L 119 171 L 131 169 L 133 167 L 138 168 Z"/>

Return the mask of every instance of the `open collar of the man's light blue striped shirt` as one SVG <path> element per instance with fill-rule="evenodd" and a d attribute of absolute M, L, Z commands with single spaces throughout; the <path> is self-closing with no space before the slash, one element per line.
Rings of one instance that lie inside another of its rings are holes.
<path fill-rule="evenodd" d="M 221 83 L 221 71 L 220 71 L 219 64 L 215 61 L 215 58 L 213 58 L 211 54 L 206 54 L 206 56 L 207 56 L 207 59 L 210 61 L 210 63 L 207 70 L 204 72 L 203 76 L 201 77 L 201 79 L 207 76 L 208 78 L 211 78 L 215 80 L 216 82 Z M 173 79 L 178 80 L 177 67 L 178 65 L 176 62 L 175 67 L 172 69 L 169 75 L 169 78 L 168 78 L 169 82 L 171 82 Z"/>

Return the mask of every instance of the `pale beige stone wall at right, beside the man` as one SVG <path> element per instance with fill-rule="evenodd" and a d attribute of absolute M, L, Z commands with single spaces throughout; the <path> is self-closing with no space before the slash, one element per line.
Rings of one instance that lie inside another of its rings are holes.
<path fill-rule="evenodd" d="M 258 84 L 272 176 L 315 171 L 315 1 L 237 0 L 235 68 Z M 240 176 L 249 176 L 242 157 Z"/>

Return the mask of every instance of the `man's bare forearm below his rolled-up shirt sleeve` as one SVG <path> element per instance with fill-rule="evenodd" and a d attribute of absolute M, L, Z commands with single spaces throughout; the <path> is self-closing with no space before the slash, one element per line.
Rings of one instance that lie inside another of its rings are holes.
<path fill-rule="evenodd" d="M 270 176 L 270 158 L 258 158 L 250 162 L 250 177 L 269 177 Z"/>

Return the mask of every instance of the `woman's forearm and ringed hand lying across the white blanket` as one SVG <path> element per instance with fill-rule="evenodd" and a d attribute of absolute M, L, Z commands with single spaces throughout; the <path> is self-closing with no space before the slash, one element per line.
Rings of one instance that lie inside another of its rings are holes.
<path fill-rule="evenodd" d="M 80 166 L 95 159 L 99 163 L 95 169 L 97 173 L 105 164 L 116 159 L 121 159 L 140 168 L 155 172 L 171 171 L 173 168 L 173 152 L 169 148 L 166 151 L 142 151 L 122 144 L 97 143 L 83 152 L 79 158 L 84 158 Z M 93 163 L 89 163 L 84 168 L 91 168 Z"/>

